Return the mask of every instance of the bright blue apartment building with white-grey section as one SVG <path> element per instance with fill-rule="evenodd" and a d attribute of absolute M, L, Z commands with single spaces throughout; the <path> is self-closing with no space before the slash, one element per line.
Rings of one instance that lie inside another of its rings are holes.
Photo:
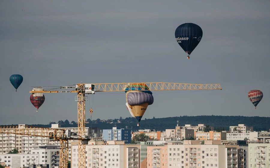
<path fill-rule="evenodd" d="M 103 139 L 107 141 L 124 141 L 126 144 L 131 141 L 131 130 L 113 127 L 111 130 L 102 130 L 102 132 Z"/>

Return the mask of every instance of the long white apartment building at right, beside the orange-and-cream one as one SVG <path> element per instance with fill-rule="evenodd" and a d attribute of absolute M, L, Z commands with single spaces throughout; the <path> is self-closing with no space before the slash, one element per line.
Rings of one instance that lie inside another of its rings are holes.
<path fill-rule="evenodd" d="M 257 141 L 258 135 L 259 132 L 246 132 L 246 133 L 234 132 L 234 133 L 226 133 L 226 139 L 237 141 L 237 140 L 244 140 L 245 138 L 247 138 L 249 139 L 249 141 Z"/>

